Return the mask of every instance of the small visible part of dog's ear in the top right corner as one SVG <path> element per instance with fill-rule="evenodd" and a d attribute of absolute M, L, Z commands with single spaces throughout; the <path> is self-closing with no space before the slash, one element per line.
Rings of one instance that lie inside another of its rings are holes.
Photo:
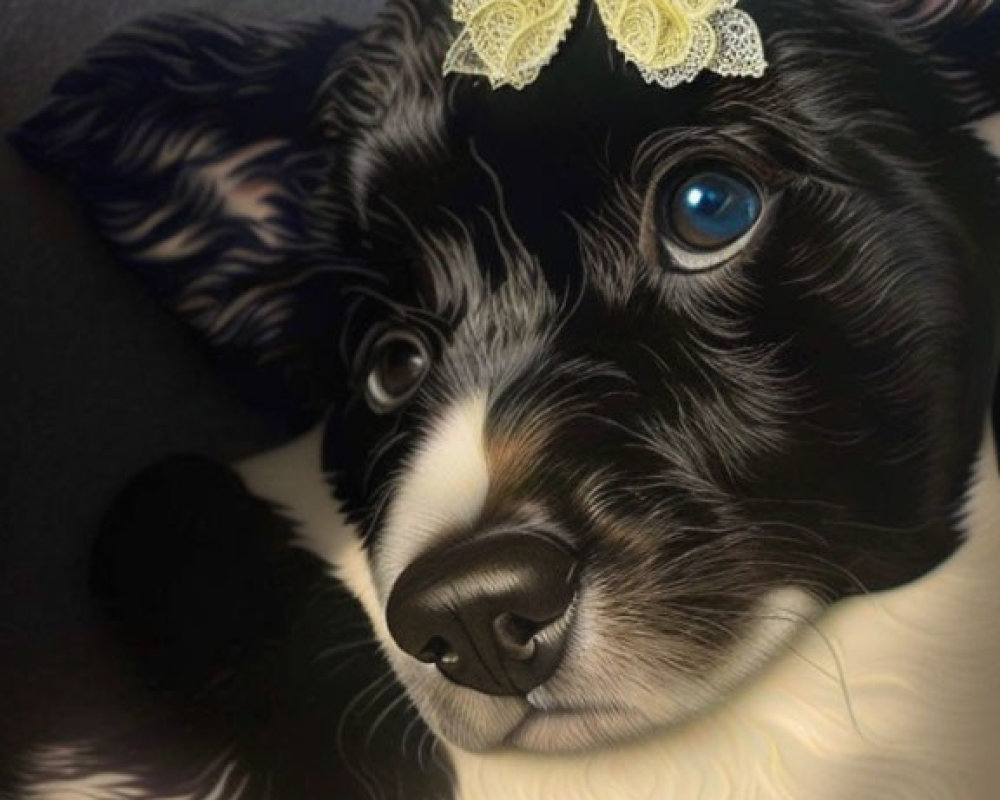
<path fill-rule="evenodd" d="M 1000 112 L 1000 0 L 873 0 L 954 78 L 966 122 Z"/>

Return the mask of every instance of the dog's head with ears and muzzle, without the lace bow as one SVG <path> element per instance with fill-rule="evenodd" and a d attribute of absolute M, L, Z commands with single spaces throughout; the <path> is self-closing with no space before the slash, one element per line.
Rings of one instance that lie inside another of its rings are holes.
<path fill-rule="evenodd" d="M 350 580 L 432 727 L 616 741 L 960 546 L 998 354 L 986 98 L 863 0 L 745 0 L 766 75 L 670 91 L 584 3 L 494 91 L 442 76 L 447 5 L 392 4 L 332 66 L 324 26 L 150 26 L 26 147 L 86 163 L 227 363 L 331 409 Z"/>

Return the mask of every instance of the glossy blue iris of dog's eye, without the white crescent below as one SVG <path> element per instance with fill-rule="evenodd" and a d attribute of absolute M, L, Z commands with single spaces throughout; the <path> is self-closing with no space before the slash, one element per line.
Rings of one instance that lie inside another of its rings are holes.
<path fill-rule="evenodd" d="M 724 168 L 690 174 L 669 197 L 670 235 L 695 251 L 720 250 L 753 230 L 764 202 L 760 190 L 740 173 Z"/>

